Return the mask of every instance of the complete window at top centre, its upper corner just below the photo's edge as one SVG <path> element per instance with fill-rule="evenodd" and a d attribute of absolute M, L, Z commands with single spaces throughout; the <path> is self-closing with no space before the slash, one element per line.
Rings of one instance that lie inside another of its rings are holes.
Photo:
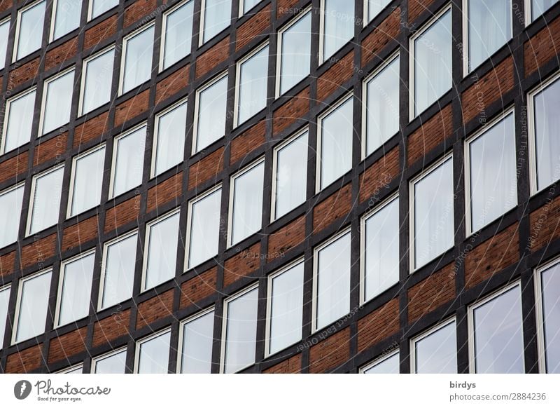
<path fill-rule="evenodd" d="M 276 96 L 283 95 L 311 70 L 311 12 L 305 11 L 278 32 Z"/>

